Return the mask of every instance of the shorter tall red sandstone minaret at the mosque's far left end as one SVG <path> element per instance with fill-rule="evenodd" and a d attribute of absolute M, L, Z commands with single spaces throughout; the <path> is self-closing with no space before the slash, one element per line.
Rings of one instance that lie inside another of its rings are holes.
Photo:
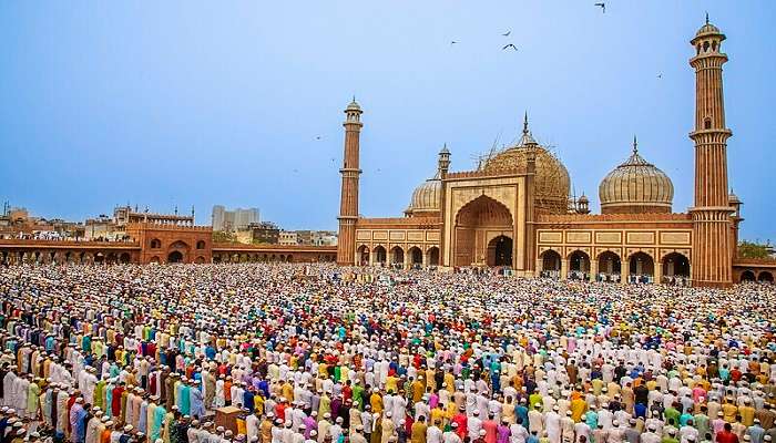
<path fill-rule="evenodd" d="M 356 220 L 358 219 L 358 167 L 359 136 L 361 134 L 361 106 L 356 97 L 345 109 L 345 155 L 343 188 L 339 194 L 339 237 L 337 238 L 337 264 L 353 266 L 356 261 Z"/>

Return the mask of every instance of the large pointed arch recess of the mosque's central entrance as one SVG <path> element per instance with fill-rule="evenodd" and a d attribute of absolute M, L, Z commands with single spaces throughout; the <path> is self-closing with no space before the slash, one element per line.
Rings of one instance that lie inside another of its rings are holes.
<path fill-rule="evenodd" d="M 486 238 L 488 234 L 501 231 L 501 236 L 510 238 L 508 235 L 512 235 L 513 230 L 514 224 L 509 208 L 487 195 L 480 195 L 463 205 L 456 214 L 452 238 L 452 265 L 490 265 L 490 241 Z M 513 240 L 513 238 L 510 239 Z M 513 250 L 514 245 L 512 243 Z M 512 255 L 513 253 L 509 256 L 504 254 L 504 260 L 509 258 L 510 266 L 512 264 Z M 493 256 L 494 261 L 496 256 Z"/>

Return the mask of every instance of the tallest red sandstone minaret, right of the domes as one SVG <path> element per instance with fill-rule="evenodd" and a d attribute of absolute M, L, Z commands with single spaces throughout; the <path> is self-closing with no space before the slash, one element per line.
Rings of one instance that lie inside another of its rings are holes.
<path fill-rule="evenodd" d="M 727 287 L 733 282 L 732 259 L 735 245 L 731 236 L 731 208 L 727 195 L 727 138 L 722 89 L 722 52 L 725 35 L 708 23 L 691 41 L 696 50 L 690 65 L 695 69 L 695 204 L 693 216 L 694 286 Z"/>

